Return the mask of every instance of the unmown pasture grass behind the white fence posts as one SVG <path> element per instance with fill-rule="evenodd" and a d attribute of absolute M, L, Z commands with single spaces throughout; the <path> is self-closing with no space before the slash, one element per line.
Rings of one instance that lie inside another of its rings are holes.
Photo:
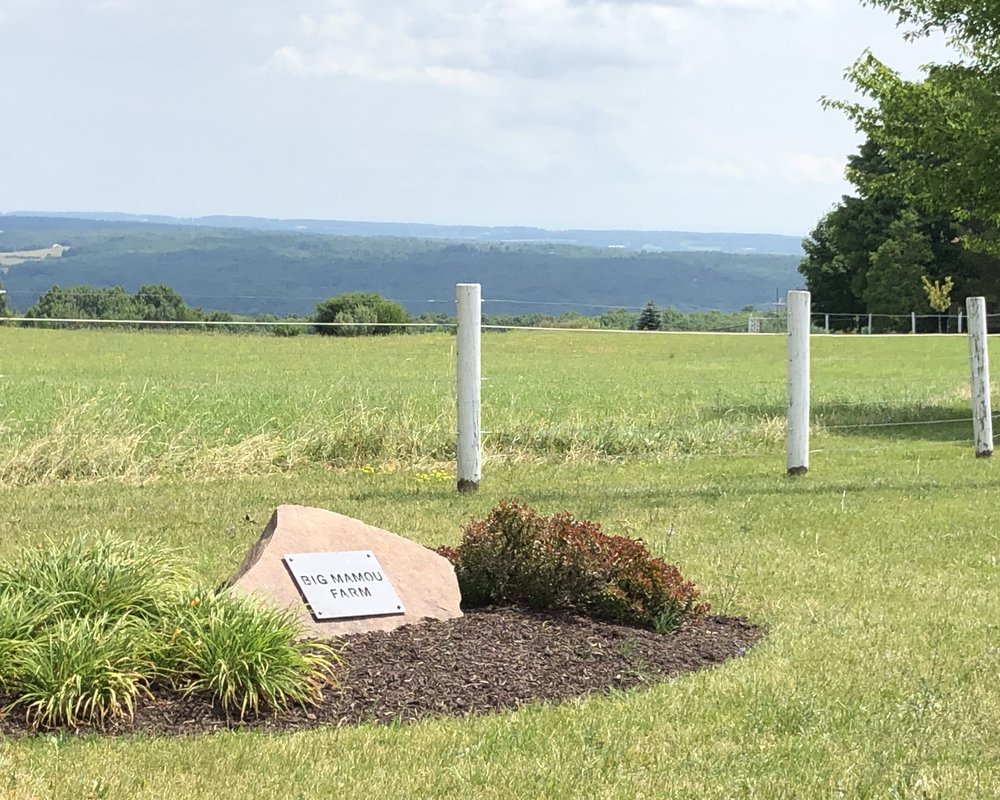
<path fill-rule="evenodd" d="M 896 342 L 898 362 L 871 357 L 882 341 Z M 5 328 L 0 344 L 16 354 L 0 392 L 6 485 L 435 464 L 455 454 L 447 334 L 348 341 Z M 783 346 L 775 336 L 487 336 L 486 456 L 588 463 L 773 451 L 784 439 Z M 817 339 L 817 435 L 959 424 L 969 416 L 963 348 L 960 337 Z"/>

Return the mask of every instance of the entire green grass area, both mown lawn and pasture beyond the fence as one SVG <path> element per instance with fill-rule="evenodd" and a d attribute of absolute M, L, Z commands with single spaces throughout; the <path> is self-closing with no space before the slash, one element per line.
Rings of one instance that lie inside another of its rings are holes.
<path fill-rule="evenodd" d="M 814 338 L 792 479 L 781 336 L 488 335 L 474 496 L 454 341 L 0 328 L 0 556 L 112 530 L 218 580 L 279 503 L 437 544 L 516 497 L 643 538 L 764 643 L 471 719 L 0 741 L 0 797 L 997 796 L 1000 474 L 962 338 Z"/>

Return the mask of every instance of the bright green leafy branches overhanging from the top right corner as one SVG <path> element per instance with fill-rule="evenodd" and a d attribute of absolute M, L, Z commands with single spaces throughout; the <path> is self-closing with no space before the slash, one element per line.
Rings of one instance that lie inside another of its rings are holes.
<path fill-rule="evenodd" d="M 864 0 L 894 14 L 910 38 L 943 32 L 961 61 L 930 64 L 923 80 L 866 52 L 849 70 L 864 100 L 827 101 L 876 142 L 891 183 L 922 208 L 947 214 L 970 249 L 1000 254 L 1000 4 L 990 0 Z"/>

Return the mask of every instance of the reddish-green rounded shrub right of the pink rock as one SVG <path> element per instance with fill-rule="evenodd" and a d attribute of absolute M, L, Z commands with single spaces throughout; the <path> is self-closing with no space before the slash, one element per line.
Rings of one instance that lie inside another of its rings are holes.
<path fill-rule="evenodd" d="M 664 633 L 708 610 L 694 584 L 642 542 L 514 501 L 467 525 L 459 547 L 438 552 L 455 565 L 469 607 L 565 609 Z"/>

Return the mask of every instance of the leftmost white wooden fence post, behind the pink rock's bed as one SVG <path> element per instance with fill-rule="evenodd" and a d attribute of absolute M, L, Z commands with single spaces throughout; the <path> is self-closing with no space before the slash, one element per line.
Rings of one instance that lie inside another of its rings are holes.
<path fill-rule="evenodd" d="M 458 302 L 458 491 L 475 492 L 483 468 L 480 285 L 457 284 L 455 299 Z"/>

